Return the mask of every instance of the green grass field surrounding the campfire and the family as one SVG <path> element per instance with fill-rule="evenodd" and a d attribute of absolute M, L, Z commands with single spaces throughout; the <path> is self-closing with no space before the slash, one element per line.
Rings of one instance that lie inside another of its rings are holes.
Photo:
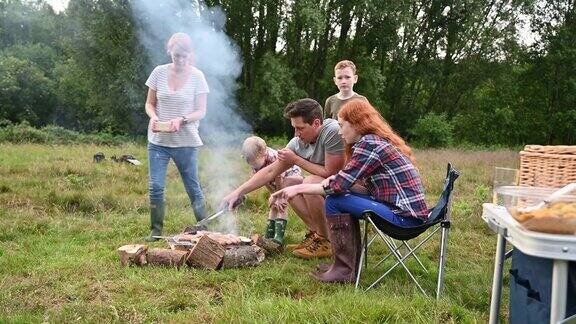
<path fill-rule="evenodd" d="M 92 163 L 99 151 L 133 154 L 143 165 Z M 222 159 L 247 178 L 238 153 L 228 153 Z M 209 197 L 222 184 L 211 156 L 209 148 L 201 151 Z M 307 273 L 320 261 L 289 253 L 239 270 L 122 268 L 116 248 L 148 234 L 145 147 L 0 145 L 0 322 L 487 322 L 496 238 L 480 218 L 481 204 L 490 200 L 494 166 L 516 167 L 517 153 L 422 150 L 416 156 L 431 205 L 446 163 L 461 172 L 440 301 L 424 297 L 401 271 L 367 293 L 318 284 Z M 176 233 L 193 216 L 173 165 L 167 191 L 165 232 Z M 265 191 L 248 198 L 237 216 L 244 235 L 263 232 L 267 214 Z M 288 242 L 304 233 L 291 217 Z M 429 273 L 415 271 L 430 295 L 438 249 L 438 239 L 429 242 L 420 254 Z"/>

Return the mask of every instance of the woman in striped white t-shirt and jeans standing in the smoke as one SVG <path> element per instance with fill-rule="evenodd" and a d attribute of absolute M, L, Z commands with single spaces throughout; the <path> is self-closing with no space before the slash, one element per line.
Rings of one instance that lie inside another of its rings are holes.
<path fill-rule="evenodd" d="M 190 198 L 196 220 L 203 219 L 205 201 L 198 181 L 198 134 L 200 120 L 206 115 L 208 84 L 202 71 L 192 63 L 192 41 L 185 33 L 176 33 L 167 44 L 172 63 L 157 66 L 146 81 L 148 97 L 149 194 L 152 236 L 162 235 L 164 224 L 164 188 L 170 159 L 174 161 Z"/>

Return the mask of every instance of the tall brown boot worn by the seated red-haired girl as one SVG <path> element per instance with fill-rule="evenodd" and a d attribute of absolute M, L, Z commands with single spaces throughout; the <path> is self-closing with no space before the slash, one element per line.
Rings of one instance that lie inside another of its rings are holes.
<path fill-rule="evenodd" d="M 352 283 L 356 279 L 360 226 L 350 214 L 326 217 L 330 231 L 334 263 L 324 273 L 310 275 L 321 282 Z"/>

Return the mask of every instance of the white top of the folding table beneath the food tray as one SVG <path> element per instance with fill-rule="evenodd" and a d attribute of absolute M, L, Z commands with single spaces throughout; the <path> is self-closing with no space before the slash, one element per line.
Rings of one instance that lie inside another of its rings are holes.
<path fill-rule="evenodd" d="M 506 208 L 490 203 L 482 204 L 482 219 L 523 253 L 540 258 L 576 261 L 576 235 L 529 231 Z"/>

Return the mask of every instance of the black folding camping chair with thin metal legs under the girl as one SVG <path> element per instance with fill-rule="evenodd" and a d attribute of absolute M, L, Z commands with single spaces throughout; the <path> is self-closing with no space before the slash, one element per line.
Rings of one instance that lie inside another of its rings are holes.
<path fill-rule="evenodd" d="M 420 291 L 424 295 L 427 296 L 426 292 L 416 278 L 412 275 L 412 272 L 406 266 L 405 260 L 413 256 L 415 260 L 420 264 L 420 266 L 427 272 L 426 268 L 416 255 L 416 251 L 432 236 L 442 229 L 442 237 L 441 237 L 441 246 L 440 246 L 440 260 L 438 265 L 438 282 L 437 282 L 437 289 L 436 289 L 436 298 L 440 298 L 440 294 L 442 293 L 442 287 L 444 284 L 444 264 L 446 262 L 446 252 L 448 249 L 448 232 L 450 230 L 450 204 L 451 204 L 451 197 L 452 197 L 452 189 L 454 187 L 454 181 L 460 176 L 458 171 L 456 171 L 450 163 L 448 163 L 448 171 L 446 174 L 446 179 L 444 181 L 444 190 L 440 195 L 440 199 L 436 206 L 430 211 L 428 215 L 428 220 L 419 226 L 414 227 L 399 227 L 394 225 L 385 219 L 379 217 L 375 214 L 375 212 L 371 210 L 366 210 L 363 213 L 363 220 L 364 220 L 364 238 L 362 239 L 362 253 L 360 254 L 360 262 L 358 264 L 358 272 L 356 276 L 356 288 L 359 287 L 360 284 L 360 276 L 362 274 L 362 270 L 367 265 L 367 256 L 368 256 L 368 247 L 374 243 L 374 240 L 377 237 L 380 237 L 382 241 L 388 246 L 390 249 L 390 253 L 384 257 L 376 267 L 382 264 L 388 257 L 391 255 L 396 258 L 396 263 L 388 269 L 382 276 L 380 276 L 376 281 L 374 281 L 366 290 L 371 289 L 375 285 L 377 285 L 385 276 L 387 276 L 394 268 L 398 265 L 401 265 L 404 270 L 408 273 L 412 281 L 418 286 Z M 376 233 L 370 240 L 368 239 L 368 228 L 371 225 L 374 232 Z M 437 226 L 438 225 L 438 226 Z M 435 228 L 434 228 L 435 227 Z M 421 240 L 417 245 L 412 248 L 408 241 L 418 237 L 420 234 L 426 232 L 428 229 L 431 229 L 431 232 Z M 400 245 L 397 245 L 394 240 L 400 241 Z M 407 253 L 402 255 L 400 253 L 400 248 L 405 247 Z M 364 263 L 364 266 L 362 265 Z"/>

